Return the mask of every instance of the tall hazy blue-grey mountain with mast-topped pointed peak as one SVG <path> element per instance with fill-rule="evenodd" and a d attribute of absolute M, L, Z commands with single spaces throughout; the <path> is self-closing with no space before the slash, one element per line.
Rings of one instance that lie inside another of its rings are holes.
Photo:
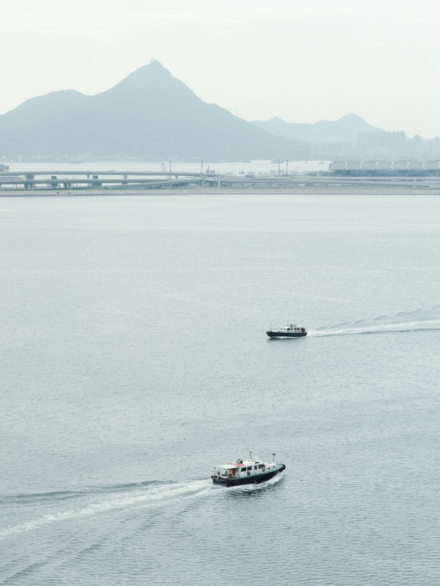
<path fill-rule="evenodd" d="M 207 104 L 158 61 L 96 96 L 67 89 L 0 116 L 0 153 L 98 157 L 295 159 L 309 145 Z"/>

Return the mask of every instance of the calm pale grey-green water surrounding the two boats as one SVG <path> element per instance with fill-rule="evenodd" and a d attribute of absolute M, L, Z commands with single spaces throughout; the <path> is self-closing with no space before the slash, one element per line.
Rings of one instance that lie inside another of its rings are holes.
<path fill-rule="evenodd" d="M 440 583 L 440 197 L 2 198 L 0 242 L 1 583 Z"/>

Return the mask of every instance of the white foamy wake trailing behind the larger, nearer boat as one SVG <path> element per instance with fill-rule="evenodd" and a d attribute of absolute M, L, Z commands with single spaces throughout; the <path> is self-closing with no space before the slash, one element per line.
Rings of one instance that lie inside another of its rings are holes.
<path fill-rule="evenodd" d="M 90 515 L 101 514 L 108 511 L 124 510 L 127 508 L 160 508 L 177 501 L 197 499 L 214 494 L 216 491 L 212 483 L 207 479 L 197 481 L 179 482 L 144 482 L 113 487 L 93 488 L 89 491 L 63 491 L 43 493 L 39 495 L 19 495 L 8 497 L 12 504 L 25 503 L 30 505 L 49 505 L 53 512 L 43 514 L 30 521 L 19 523 L 0 531 L 0 538 L 8 535 L 23 533 L 39 529 L 51 523 L 58 523 L 69 519 L 80 519 Z M 66 499 L 68 508 L 65 508 Z M 2 499 L 4 505 L 6 499 Z M 74 501 L 76 506 L 74 506 Z"/>

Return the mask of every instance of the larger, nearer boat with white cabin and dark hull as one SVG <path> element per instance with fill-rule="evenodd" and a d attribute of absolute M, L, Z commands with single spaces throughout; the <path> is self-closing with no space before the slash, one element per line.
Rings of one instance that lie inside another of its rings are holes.
<path fill-rule="evenodd" d="M 214 466 L 212 482 L 218 486 L 238 486 L 239 484 L 259 484 L 269 480 L 285 470 L 284 464 L 275 462 L 275 454 L 272 456 L 274 462 L 261 462 L 254 459 L 250 452 L 248 460 L 237 459 L 236 462 Z"/>

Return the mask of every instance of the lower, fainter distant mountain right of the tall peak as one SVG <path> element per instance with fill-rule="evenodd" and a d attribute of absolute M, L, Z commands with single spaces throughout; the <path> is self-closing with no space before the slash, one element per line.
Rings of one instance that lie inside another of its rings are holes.
<path fill-rule="evenodd" d="M 376 128 L 365 122 L 360 116 L 348 114 L 342 116 L 334 122 L 331 120 L 320 120 L 314 124 L 298 124 L 296 122 L 285 122 L 281 118 L 272 118 L 271 120 L 254 120 L 255 126 L 272 132 L 276 136 L 290 138 L 292 140 L 303 140 L 305 142 L 325 142 L 330 139 L 344 140 L 346 142 L 356 142 L 358 132 L 380 132 L 381 128 Z"/>

